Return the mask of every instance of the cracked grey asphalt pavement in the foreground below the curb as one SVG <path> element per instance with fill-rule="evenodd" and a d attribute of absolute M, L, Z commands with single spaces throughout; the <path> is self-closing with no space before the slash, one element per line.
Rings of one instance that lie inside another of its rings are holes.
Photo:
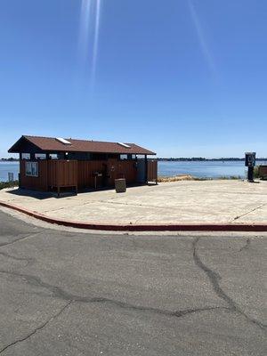
<path fill-rule="evenodd" d="M 266 235 L 100 235 L 0 211 L 0 354 L 266 355 Z"/>

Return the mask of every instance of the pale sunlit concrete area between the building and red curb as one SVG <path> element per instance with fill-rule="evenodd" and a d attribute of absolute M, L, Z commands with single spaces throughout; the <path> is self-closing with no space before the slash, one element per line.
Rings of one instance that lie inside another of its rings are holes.
<path fill-rule="evenodd" d="M 30 194 L 30 195 L 28 195 Z M 267 223 L 267 182 L 183 181 L 66 195 L 0 190 L 0 201 L 85 223 Z"/>

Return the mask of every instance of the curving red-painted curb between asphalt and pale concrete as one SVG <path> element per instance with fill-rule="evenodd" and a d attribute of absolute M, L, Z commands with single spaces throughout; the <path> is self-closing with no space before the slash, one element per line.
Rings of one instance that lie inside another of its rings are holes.
<path fill-rule="evenodd" d="M 174 223 L 174 224 L 106 224 L 106 223 L 83 223 L 61 219 L 53 219 L 24 209 L 20 206 L 13 206 L 0 201 L 0 206 L 8 207 L 20 213 L 27 214 L 42 220 L 46 223 L 56 223 L 58 225 L 69 226 L 77 229 L 101 230 L 101 231 L 267 231 L 267 223 Z"/>

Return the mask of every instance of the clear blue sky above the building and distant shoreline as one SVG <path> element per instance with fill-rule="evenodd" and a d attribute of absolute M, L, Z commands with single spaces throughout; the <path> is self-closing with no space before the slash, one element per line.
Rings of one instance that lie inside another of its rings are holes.
<path fill-rule="evenodd" d="M 265 0 L 87 2 L 1 1 L 0 157 L 21 134 L 267 156 Z"/>

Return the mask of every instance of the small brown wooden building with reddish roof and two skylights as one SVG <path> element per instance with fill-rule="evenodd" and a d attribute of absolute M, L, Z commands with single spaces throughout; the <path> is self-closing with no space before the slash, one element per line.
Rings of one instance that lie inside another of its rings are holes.
<path fill-rule="evenodd" d="M 20 154 L 20 188 L 57 190 L 157 182 L 156 155 L 134 143 L 96 142 L 23 135 L 8 150 Z"/>

